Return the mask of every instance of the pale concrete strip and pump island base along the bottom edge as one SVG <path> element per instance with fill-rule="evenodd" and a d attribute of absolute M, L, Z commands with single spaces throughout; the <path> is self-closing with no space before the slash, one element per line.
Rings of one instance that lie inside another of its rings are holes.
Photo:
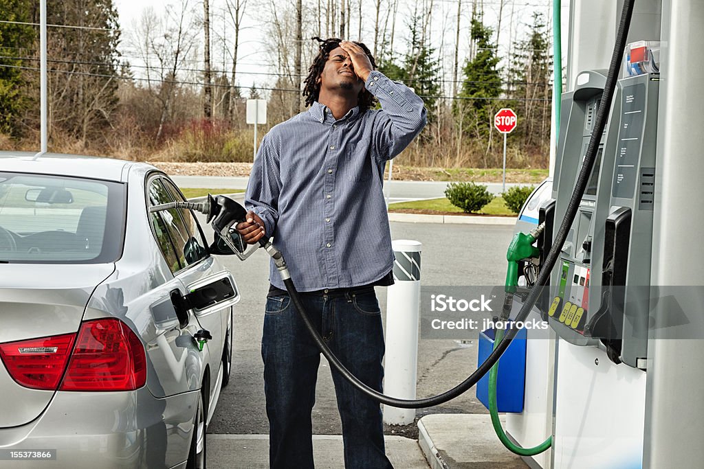
<path fill-rule="evenodd" d="M 501 418 L 503 423 L 503 417 Z M 505 449 L 489 414 L 435 414 L 418 420 L 418 441 L 386 436 L 386 456 L 396 469 L 525 469 Z M 208 435 L 208 466 L 268 469 L 268 435 Z M 316 469 L 344 469 L 342 437 L 313 435 Z"/>

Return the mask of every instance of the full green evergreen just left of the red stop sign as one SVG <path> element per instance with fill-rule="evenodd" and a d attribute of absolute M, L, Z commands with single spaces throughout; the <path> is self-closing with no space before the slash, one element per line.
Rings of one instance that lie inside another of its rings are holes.
<path fill-rule="evenodd" d="M 502 91 L 501 75 L 496 68 L 501 59 L 496 55 L 496 45 L 491 42 L 492 33 L 481 19 L 476 15 L 472 17 L 470 37 L 477 53 L 465 63 L 460 100 L 455 103 L 455 113 L 463 119 L 464 128 L 467 131 L 479 129 L 480 134 L 489 133 L 491 119 L 498 110 L 498 103 L 486 98 L 498 98 Z"/>

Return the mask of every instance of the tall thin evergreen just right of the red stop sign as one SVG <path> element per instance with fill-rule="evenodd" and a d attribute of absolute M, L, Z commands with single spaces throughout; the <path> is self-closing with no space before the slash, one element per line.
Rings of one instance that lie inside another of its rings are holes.
<path fill-rule="evenodd" d="M 526 39 L 515 44 L 515 56 L 509 69 L 508 95 L 516 105 L 521 125 L 516 134 L 524 152 L 544 153 L 550 139 L 551 119 L 551 37 L 541 13 L 533 13 L 533 23 Z"/>

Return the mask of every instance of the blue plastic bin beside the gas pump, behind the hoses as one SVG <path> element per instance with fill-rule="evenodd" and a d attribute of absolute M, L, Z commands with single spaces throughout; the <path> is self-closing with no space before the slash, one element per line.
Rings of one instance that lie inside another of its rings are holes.
<path fill-rule="evenodd" d="M 479 333 L 479 356 L 481 365 L 494 349 L 496 330 L 486 329 Z M 526 330 L 522 328 L 501 355 L 496 378 L 496 404 L 499 412 L 520 413 L 523 411 L 523 396 L 526 377 Z M 477 383 L 477 399 L 489 409 L 489 373 Z"/>

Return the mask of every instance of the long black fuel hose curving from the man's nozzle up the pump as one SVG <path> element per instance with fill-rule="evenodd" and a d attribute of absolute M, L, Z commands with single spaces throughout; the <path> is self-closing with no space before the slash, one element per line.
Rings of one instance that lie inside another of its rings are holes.
<path fill-rule="evenodd" d="M 523 322 L 527 318 L 528 314 L 538 300 L 543 287 L 547 285 L 550 278 L 551 271 L 555 262 L 557 262 L 560 256 L 560 251 L 562 250 L 562 245 L 565 244 L 567 239 L 567 233 L 570 231 L 570 226 L 574 221 L 574 217 L 577 216 L 577 210 L 579 209 L 579 203 L 582 200 L 582 195 L 586 189 L 587 181 L 589 181 L 589 175 L 591 174 L 591 169 L 594 165 L 594 160 L 596 159 L 596 152 L 601 141 L 601 134 L 603 134 L 606 122 L 608 120 L 608 114 L 611 110 L 611 101 L 615 93 L 616 83 L 618 79 L 618 74 L 620 70 L 621 61 L 623 59 L 624 49 L 626 47 L 626 39 L 631 25 L 631 16 L 633 15 L 634 0 L 626 0 L 624 2 L 621 11 L 621 20 L 619 24 L 619 29 L 616 35 L 616 44 L 614 46 L 614 51 L 611 56 L 611 63 L 609 65 L 608 76 L 606 77 L 606 84 L 604 86 L 604 92 L 601 98 L 601 105 L 599 106 L 598 113 L 596 115 L 596 122 L 594 124 L 594 130 L 591 134 L 591 139 L 589 139 L 589 147 L 586 151 L 586 157 L 584 158 L 584 164 L 582 169 L 579 171 L 579 176 L 577 177 L 577 184 L 574 186 L 574 192 L 572 193 L 572 198 L 570 198 L 570 203 L 567 205 L 567 212 L 565 212 L 565 218 L 562 219 L 562 224 L 558 232 L 555 234 L 555 240 L 553 242 L 553 247 L 545 258 L 545 262 L 541 266 L 540 274 L 536 279 L 534 288 L 530 290 L 530 293 L 523 303 L 519 313 L 517 314 L 515 321 Z M 318 345 L 320 352 L 325 355 L 327 361 L 330 365 L 335 368 L 335 370 L 340 373 L 346 380 L 348 380 L 354 387 L 356 387 L 360 392 L 363 392 L 367 397 L 379 401 L 387 406 L 398 407 L 400 409 L 420 409 L 422 407 L 436 406 L 438 404 L 443 404 L 446 401 L 458 397 L 460 394 L 470 390 L 472 386 L 477 384 L 477 382 L 482 378 L 482 376 L 489 373 L 491 367 L 494 366 L 496 361 L 505 349 L 508 348 L 511 340 L 518 333 L 517 328 L 509 328 L 503 340 L 496 346 L 493 352 L 486 357 L 484 363 L 482 363 L 474 373 L 472 373 L 467 379 L 462 383 L 453 387 L 451 390 L 438 394 L 437 396 L 425 397 L 424 399 L 397 399 L 396 397 L 389 397 L 385 394 L 373 390 L 362 383 L 355 375 L 350 373 L 347 368 L 339 361 L 337 356 L 335 356 L 332 351 L 325 344 L 325 340 L 320 336 L 318 330 L 308 318 L 303 304 L 301 303 L 301 298 L 298 296 L 298 292 L 294 286 L 291 278 L 284 279 L 284 285 L 289 292 L 291 301 L 294 302 L 294 306 L 298 310 L 298 314 L 301 314 L 303 323 L 306 324 L 308 332 L 313 336 L 315 345 Z"/>

